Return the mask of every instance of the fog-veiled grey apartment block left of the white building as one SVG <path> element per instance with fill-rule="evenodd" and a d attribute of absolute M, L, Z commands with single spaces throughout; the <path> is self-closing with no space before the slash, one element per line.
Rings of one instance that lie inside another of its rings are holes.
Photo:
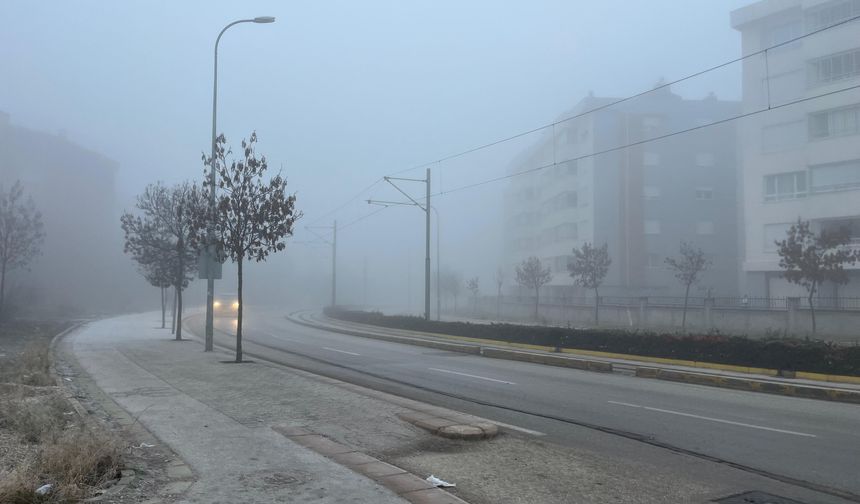
<path fill-rule="evenodd" d="M 739 104 L 714 95 L 688 100 L 668 87 L 617 101 L 584 98 L 562 116 L 575 119 L 558 123 L 509 168 L 547 166 L 513 177 L 507 188 L 507 267 L 537 256 L 553 271 L 547 293 L 570 295 L 572 250 L 606 243 L 612 265 L 601 294 L 674 295 L 681 288 L 664 261 L 686 241 L 712 263 L 702 287 L 734 295 L 734 125 L 671 134 L 735 115 Z"/>

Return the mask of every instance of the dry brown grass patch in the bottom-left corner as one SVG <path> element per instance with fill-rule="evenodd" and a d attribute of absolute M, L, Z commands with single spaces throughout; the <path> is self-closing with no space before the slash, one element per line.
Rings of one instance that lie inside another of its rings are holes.
<path fill-rule="evenodd" d="M 73 502 L 119 476 L 122 442 L 80 418 L 55 383 L 49 358 L 52 328 L 19 324 L 0 334 L 0 342 L 22 349 L 0 368 L 2 503 Z M 46 484 L 51 490 L 37 495 Z"/>

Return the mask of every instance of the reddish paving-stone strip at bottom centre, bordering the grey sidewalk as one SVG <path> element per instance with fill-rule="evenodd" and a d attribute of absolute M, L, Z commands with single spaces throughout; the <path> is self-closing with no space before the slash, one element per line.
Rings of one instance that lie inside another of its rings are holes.
<path fill-rule="evenodd" d="M 414 504 L 468 504 L 463 499 L 434 487 L 412 473 L 316 434 L 307 427 L 276 424 L 272 426 L 272 430 L 376 481 L 398 497 Z"/>

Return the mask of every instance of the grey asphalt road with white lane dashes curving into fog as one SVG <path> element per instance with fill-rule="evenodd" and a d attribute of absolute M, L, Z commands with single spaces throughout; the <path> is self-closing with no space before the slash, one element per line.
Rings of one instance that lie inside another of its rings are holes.
<path fill-rule="evenodd" d="M 230 344 L 230 320 L 218 342 Z M 860 407 L 488 359 L 246 319 L 248 351 L 509 424 L 562 444 L 602 431 L 695 452 L 860 502 Z M 533 432 L 532 432 L 533 431 Z M 593 441 L 593 440 L 592 440 Z"/>

